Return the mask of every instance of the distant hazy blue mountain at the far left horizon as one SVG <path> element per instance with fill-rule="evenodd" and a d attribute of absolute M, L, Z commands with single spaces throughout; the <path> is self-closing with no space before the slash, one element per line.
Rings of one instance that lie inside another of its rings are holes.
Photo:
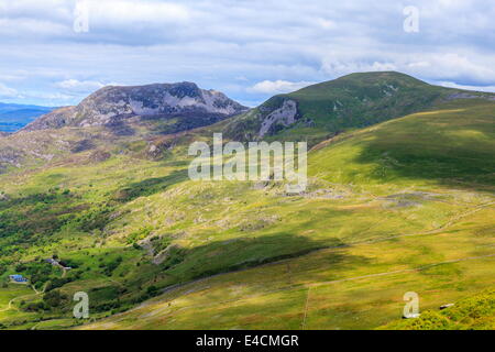
<path fill-rule="evenodd" d="M 15 132 L 55 108 L 0 102 L 0 131 Z"/>

